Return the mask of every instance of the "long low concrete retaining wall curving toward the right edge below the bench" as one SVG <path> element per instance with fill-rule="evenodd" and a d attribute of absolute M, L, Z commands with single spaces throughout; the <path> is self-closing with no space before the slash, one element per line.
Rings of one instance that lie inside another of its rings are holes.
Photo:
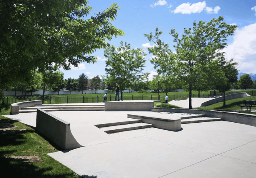
<path fill-rule="evenodd" d="M 152 111 L 204 114 L 206 117 L 218 117 L 218 118 L 222 118 L 222 120 L 224 121 L 242 123 L 242 124 L 256 127 L 256 115 L 254 114 L 225 112 L 225 111 L 210 111 L 210 110 L 176 109 L 176 108 L 152 108 Z"/>

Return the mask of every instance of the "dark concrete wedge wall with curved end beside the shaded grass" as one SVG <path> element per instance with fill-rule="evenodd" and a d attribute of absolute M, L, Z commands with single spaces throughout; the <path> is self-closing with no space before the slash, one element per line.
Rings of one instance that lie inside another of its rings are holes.
<path fill-rule="evenodd" d="M 72 135 L 70 123 L 42 109 L 36 111 L 36 130 L 60 149 L 68 150 L 82 147 Z"/>

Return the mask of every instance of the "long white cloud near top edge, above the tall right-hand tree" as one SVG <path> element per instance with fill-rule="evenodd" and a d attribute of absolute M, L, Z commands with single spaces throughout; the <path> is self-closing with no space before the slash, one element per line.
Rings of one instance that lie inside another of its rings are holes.
<path fill-rule="evenodd" d="M 191 5 L 191 3 L 180 4 L 174 11 L 174 14 L 191 14 L 191 13 L 200 13 L 206 8 L 206 2 L 198 2 Z"/>

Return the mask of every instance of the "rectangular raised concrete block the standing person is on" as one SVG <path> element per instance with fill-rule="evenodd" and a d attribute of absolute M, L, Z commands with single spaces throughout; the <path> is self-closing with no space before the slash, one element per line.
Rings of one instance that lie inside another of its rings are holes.
<path fill-rule="evenodd" d="M 151 111 L 151 108 L 154 108 L 151 100 L 105 102 L 105 111 Z"/>

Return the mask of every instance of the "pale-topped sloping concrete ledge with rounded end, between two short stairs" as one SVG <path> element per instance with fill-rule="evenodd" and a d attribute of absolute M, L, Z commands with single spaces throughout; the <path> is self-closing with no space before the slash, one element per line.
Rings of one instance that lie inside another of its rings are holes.
<path fill-rule="evenodd" d="M 169 131 L 179 131 L 181 129 L 181 118 L 166 115 L 165 113 L 143 113 L 141 115 L 128 114 L 128 118 L 141 119 L 144 123 L 153 124 L 153 127 Z"/>

